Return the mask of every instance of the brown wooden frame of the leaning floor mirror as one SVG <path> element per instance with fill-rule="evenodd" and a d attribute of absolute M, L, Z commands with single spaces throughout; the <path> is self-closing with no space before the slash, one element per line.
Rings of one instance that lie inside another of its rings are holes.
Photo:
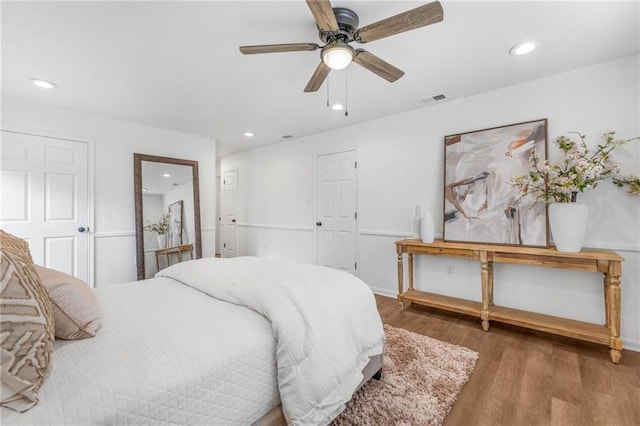
<path fill-rule="evenodd" d="M 136 270 L 139 280 L 145 277 L 144 259 L 144 223 L 142 207 L 142 162 L 151 161 L 154 163 L 175 164 L 180 166 L 190 166 L 193 177 L 193 215 L 194 232 L 196 245 L 196 259 L 202 257 L 202 241 L 200 229 L 200 179 L 198 175 L 198 162 L 192 160 L 182 160 L 179 158 L 159 157 L 157 155 L 133 154 L 133 187 L 135 193 L 136 210 Z"/>

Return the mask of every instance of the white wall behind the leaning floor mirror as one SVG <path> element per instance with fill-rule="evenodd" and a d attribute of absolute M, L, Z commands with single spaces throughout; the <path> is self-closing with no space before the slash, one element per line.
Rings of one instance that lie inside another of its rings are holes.
<path fill-rule="evenodd" d="M 2 97 L 2 125 L 90 139 L 94 146 L 95 285 L 136 279 L 133 153 L 197 160 L 203 256 L 215 244 L 215 140 Z"/>

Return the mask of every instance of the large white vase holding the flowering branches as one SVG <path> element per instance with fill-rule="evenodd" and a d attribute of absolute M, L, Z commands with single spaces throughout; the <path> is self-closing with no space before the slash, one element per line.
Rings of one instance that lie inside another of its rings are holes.
<path fill-rule="evenodd" d="M 582 250 L 587 231 L 587 206 L 580 203 L 549 205 L 549 226 L 558 251 L 577 253 Z"/>

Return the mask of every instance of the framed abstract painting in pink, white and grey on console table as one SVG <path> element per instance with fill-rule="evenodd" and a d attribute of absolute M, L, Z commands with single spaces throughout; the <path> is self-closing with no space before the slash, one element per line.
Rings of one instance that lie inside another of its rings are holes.
<path fill-rule="evenodd" d="M 547 205 L 513 184 L 535 150 L 547 159 L 547 119 L 444 137 L 443 240 L 549 247 Z"/>

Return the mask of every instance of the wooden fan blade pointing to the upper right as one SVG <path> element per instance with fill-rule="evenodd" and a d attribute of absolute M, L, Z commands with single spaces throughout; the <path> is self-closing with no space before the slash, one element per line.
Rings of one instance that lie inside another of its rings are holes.
<path fill-rule="evenodd" d="M 400 34 L 405 31 L 425 27 L 441 22 L 444 17 L 442 5 L 438 1 L 408 10 L 387 19 L 374 22 L 360 28 L 354 35 L 354 40 L 367 43 L 381 38 Z"/>

